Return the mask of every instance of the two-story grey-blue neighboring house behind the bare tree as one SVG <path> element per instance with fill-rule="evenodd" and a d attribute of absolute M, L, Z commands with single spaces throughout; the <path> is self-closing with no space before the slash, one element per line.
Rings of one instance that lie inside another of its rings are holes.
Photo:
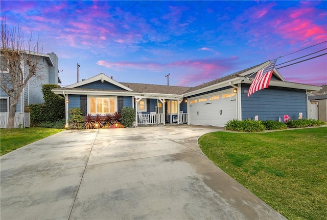
<path fill-rule="evenodd" d="M 3 56 L 1 58 L 1 74 L 8 73 L 7 68 L 7 61 Z M 24 120 L 24 116 L 19 116 L 18 113 L 24 115 L 24 106 L 30 105 L 30 104 L 37 104 L 44 102 L 43 95 L 41 91 L 41 86 L 43 84 L 59 84 L 61 83 L 59 75 L 58 75 L 58 57 L 57 55 L 52 52 L 48 54 L 40 54 L 39 60 L 38 60 L 38 75 L 40 75 L 40 78 L 32 77 L 27 86 L 24 88 L 20 95 L 20 101 L 17 103 L 16 106 L 16 114 L 18 119 L 15 118 L 15 127 L 17 124 L 24 124 L 25 126 L 28 124 L 29 120 Z M 22 61 L 21 69 L 23 70 L 23 74 L 26 75 L 28 73 L 28 66 Z M 9 113 L 9 105 L 10 100 L 8 95 L 0 89 L 0 114 L 1 115 L 1 128 L 5 128 L 7 126 L 7 120 L 8 120 L 8 113 Z M 5 114 L 7 113 L 7 115 Z M 16 123 L 17 121 L 17 123 Z M 20 122 L 21 121 L 21 122 Z"/>

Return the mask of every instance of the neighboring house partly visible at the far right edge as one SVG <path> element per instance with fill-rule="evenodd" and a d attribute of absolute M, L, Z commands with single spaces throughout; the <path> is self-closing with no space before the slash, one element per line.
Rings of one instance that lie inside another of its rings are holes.
<path fill-rule="evenodd" d="M 327 122 L 327 86 L 309 93 L 308 118 Z"/>

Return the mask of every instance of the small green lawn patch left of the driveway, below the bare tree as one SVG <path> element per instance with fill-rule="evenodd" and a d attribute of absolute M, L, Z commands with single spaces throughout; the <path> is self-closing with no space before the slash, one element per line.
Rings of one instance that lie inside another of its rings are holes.
<path fill-rule="evenodd" d="M 17 148 L 30 144 L 32 142 L 43 139 L 44 137 L 63 131 L 57 128 L 13 128 L 0 130 L 0 155 L 9 153 Z"/>

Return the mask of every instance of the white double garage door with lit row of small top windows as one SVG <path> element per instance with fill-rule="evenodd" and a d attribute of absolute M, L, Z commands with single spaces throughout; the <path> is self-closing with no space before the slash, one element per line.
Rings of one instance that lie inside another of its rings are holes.
<path fill-rule="evenodd" d="M 224 127 L 236 119 L 236 94 L 230 90 L 189 99 L 190 124 Z"/>

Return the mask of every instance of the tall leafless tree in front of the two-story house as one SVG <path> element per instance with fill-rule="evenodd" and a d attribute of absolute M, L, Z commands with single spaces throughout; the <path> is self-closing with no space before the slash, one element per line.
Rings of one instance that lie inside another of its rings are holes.
<path fill-rule="evenodd" d="M 3 18 L 1 21 L 0 49 L 1 60 L 7 62 L 1 65 L 2 69 L 0 70 L 1 89 L 9 96 L 10 101 L 7 128 L 13 128 L 20 94 L 32 76 L 41 77 L 38 72 L 42 67 L 38 66 L 38 60 L 42 48 L 39 47 L 39 40 L 35 44 L 32 43 L 32 34 L 27 45 L 25 45 L 21 25 L 18 24 L 17 28 L 10 29 L 5 18 Z M 21 107 L 24 108 L 24 106 Z"/>

